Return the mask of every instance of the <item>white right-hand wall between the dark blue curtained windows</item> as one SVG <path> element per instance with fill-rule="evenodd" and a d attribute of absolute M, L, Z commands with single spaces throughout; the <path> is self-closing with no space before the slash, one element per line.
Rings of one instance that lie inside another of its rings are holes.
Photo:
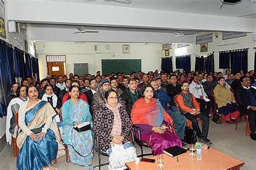
<path fill-rule="evenodd" d="M 203 32 L 196 34 L 195 36 L 202 36 L 205 34 L 209 34 L 209 32 Z M 239 38 L 233 38 L 233 39 L 227 39 L 222 40 L 223 34 L 222 32 L 218 32 L 218 38 L 215 38 L 213 32 L 213 42 L 208 43 L 208 52 L 200 52 L 200 45 L 191 44 L 190 46 L 177 48 L 177 44 L 173 45 L 173 49 L 170 49 L 170 55 L 173 56 L 173 69 L 176 69 L 175 65 L 175 56 L 179 55 L 186 55 L 191 54 L 191 70 L 194 70 L 195 62 L 196 62 L 196 55 L 205 55 L 208 53 L 212 53 L 214 51 L 214 69 L 215 71 L 221 71 L 223 72 L 223 69 L 219 69 L 219 51 L 226 51 L 231 49 L 241 49 L 241 48 L 249 48 L 248 49 L 248 70 L 254 69 L 254 49 L 255 47 L 255 41 L 252 40 L 252 36 L 255 33 L 247 33 L 246 37 L 239 37 Z M 218 46 L 223 44 L 232 44 L 238 42 L 238 44 L 235 45 L 226 45 L 226 46 Z M 162 52 L 162 55 L 164 53 Z"/>

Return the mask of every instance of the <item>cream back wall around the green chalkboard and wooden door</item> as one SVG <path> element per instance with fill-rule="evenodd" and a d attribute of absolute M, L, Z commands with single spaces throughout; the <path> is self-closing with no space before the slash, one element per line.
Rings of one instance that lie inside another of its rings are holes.
<path fill-rule="evenodd" d="M 130 53 L 123 53 L 122 46 L 130 45 Z M 97 51 L 95 51 L 97 45 Z M 110 49 L 105 46 L 110 45 Z M 73 73 L 73 63 L 89 63 L 89 73 L 102 70 L 101 59 L 142 59 L 142 70 L 160 69 L 161 44 L 86 42 L 36 42 L 40 79 L 47 74 L 46 55 L 66 55 L 66 73 Z"/>

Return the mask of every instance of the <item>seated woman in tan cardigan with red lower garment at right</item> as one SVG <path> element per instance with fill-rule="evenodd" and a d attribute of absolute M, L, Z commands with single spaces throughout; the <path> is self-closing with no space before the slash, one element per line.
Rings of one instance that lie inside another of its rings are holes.
<path fill-rule="evenodd" d="M 219 77 L 218 84 L 214 88 L 215 101 L 218 104 L 218 109 L 225 116 L 226 122 L 232 123 L 239 118 L 237 104 L 230 89 L 225 85 L 225 78 Z"/>

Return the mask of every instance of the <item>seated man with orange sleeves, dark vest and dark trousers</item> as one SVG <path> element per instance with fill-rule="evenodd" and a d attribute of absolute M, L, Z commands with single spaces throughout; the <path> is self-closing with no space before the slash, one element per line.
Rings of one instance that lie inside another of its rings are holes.
<path fill-rule="evenodd" d="M 209 131 L 210 118 L 200 112 L 199 104 L 192 93 L 190 93 L 188 82 L 183 82 L 181 84 L 181 93 L 177 96 L 177 103 L 181 109 L 181 115 L 185 116 L 188 120 L 192 122 L 192 127 L 197 131 L 198 139 L 207 144 L 211 145 L 210 139 L 207 139 Z M 198 126 L 197 118 L 203 120 L 202 131 Z"/>

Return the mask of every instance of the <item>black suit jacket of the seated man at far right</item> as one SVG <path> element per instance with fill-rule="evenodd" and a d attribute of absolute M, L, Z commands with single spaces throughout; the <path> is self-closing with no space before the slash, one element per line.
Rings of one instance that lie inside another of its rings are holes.
<path fill-rule="evenodd" d="M 256 97 L 255 94 L 255 89 L 250 88 L 252 91 L 252 94 Z M 238 110 L 241 114 L 246 114 L 247 112 L 247 107 L 251 105 L 251 99 L 247 91 L 244 89 L 244 87 L 238 87 L 235 91 L 235 100 L 237 101 L 238 104 Z"/>

